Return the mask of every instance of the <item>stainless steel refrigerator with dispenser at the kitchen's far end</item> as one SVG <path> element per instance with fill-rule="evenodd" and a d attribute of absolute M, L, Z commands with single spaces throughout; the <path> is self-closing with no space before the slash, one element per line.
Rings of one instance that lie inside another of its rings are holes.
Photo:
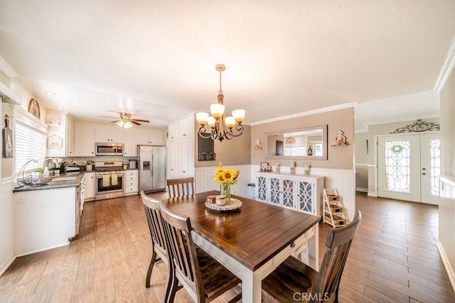
<path fill-rule="evenodd" d="M 166 190 L 166 147 L 138 145 L 139 192 Z"/>

